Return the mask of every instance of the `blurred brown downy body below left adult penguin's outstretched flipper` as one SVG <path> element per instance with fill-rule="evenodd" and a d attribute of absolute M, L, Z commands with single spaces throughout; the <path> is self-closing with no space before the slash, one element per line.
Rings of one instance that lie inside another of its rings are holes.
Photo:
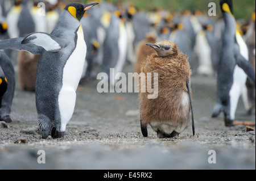
<path fill-rule="evenodd" d="M 31 54 L 21 51 L 18 56 L 19 88 L 26 91 L 35 91 L 36 68 L 40 54 Z"/>

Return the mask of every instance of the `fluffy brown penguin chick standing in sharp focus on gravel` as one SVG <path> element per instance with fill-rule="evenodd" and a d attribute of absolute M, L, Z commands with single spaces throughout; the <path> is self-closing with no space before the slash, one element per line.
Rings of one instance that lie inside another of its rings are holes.
<path fill-rule="evenodd" d="M 141 72 L 146 76 L 139 82 L 143 136 L 147 136 L 147 124 L 150 124 L 159 138 L 178 136 L 191 118 L 195 134 L 190 87 L 192 73 L 188 57 L 179 52 L 176 44 L 171 41 L 163 40 L 146 45 L 154 48 L 156 53 L 148 56 L 141 67 Z M 155 99 L 148 99 L 148 86 L 146 92 L 142 91 L 146 82 L 150 81 L 148 73 L 151 73 L 151 81 L 155 76 L 153 73 L 158 73 L 158 85 L 154 85 L 154 89 L 158 89 L 158 96 Z"/>

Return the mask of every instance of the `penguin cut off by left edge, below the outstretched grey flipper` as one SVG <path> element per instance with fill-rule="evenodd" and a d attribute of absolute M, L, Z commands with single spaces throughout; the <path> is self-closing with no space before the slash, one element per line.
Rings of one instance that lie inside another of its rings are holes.
<path fill-rule="evenodd" d="M 5 85 L 5 83 L 7 82 L 7 89 L 2 95 L 2 102 L 0 103 L 0 121 L 10 123 L 12 121 L 10 114 L 15 91 L 15 74 L 14 67 L 10 58 L 2 50 L 0 50 L 0 67 L 2 68 L 3 73 L 5 74 L 5 77 L 1 76 L 1 92 L 3 88 L 2 86 Z"/>

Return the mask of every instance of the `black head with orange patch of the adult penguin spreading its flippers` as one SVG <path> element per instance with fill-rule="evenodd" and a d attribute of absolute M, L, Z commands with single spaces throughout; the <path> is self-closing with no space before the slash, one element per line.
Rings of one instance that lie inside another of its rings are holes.
<path fill-rule="evenodd" d="M 85 11 L 95 5 L 98 5 L 98 3 L 94 2 L 87 5 L 83 5 L 81 3 L 70 3 L 64 10 L 67 10 L 74 18 L 80 21 L 82 16 L 84 16 Z"/>

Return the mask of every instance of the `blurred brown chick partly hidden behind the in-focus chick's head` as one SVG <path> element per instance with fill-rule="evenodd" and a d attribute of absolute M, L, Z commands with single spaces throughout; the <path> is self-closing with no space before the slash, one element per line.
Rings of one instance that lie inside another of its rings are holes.
<path fill-rule="evenodd" d="M 146 39 L 142 40 L 136 49 L 137 62 L 134 66 L 134 72 L 141 73 L 141 62 L 148 56 L 148 54 L 155 53 L 155 50 L 148 47 L 146 43 L 156 43 L 156 37 L 151 33 L 146 34 Z"/>

